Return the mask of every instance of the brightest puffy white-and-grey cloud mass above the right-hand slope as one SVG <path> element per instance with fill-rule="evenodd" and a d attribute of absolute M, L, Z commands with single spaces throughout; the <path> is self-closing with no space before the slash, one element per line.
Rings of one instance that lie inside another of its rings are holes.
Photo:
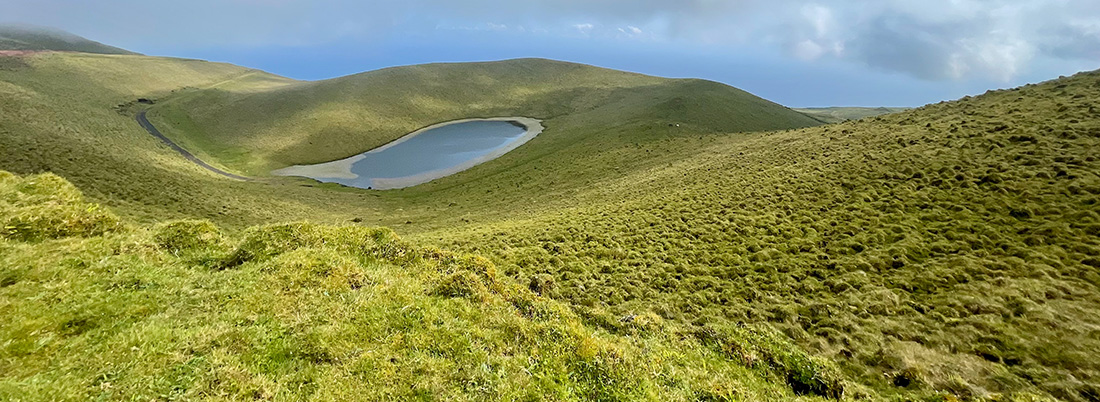
<path fill-rule="evenodd" d="M 829 32 L 810 32 L 807 18 L 788 19 L 773 40 L 817 57 L 855 62 L 928 80 L 972 77 L 1008 82 L 1042 58 L 1097 55 L 1100 3 L 1091 0 L 954 0 L 875 3 L 818 1 L 835 19 Z M 788 12 L 790 14 L 790 12 Z M 1077 22 L 1075 22 L 1077 21 Z M 1075 25 L 1076 24 L 1076 25 Z M 813 46 L 802 46 L 811 43 Z M 800 47 L 802 46 L 802 47 Z"/>

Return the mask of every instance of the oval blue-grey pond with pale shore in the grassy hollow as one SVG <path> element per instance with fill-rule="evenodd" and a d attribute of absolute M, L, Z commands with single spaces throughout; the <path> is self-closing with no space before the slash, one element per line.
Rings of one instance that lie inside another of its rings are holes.
<path fill-rule="evenodd" d="M 440 123 L 362 154 L 272 172 L 373 189 L 402 188 L 493 160 L 539 132 L 538 120 L 496 118 Z"/>

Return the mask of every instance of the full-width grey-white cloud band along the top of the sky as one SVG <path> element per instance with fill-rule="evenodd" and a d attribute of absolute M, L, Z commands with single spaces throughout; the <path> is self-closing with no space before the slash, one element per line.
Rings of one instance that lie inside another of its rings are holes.
<path fill-rule="evenodd" d="M 770 48 L 790 63 L 839 63 L 928 83 L 1010 83 L 1044 68 L 1100 67 L 1096 0 L 36 0 L 4 9 L 0 22 L 55 26 L 139 51 L 482 31 L 490 41 L 526 37 L 566 47 L 685 46 L 729 57 Z"/>

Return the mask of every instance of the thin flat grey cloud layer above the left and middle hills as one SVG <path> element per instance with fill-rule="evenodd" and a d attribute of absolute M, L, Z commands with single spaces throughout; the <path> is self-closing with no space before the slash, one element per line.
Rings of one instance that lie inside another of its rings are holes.
<path fill-rule="evenodd" d="M 581 23 L 690 31 L 737 11 L 741 0 L 36 0 L 4 6 L 0 22 L 28 22 L 114 42 L 172 45 L 298 44 L 440 24 L 532 26 Z M 7 21 L 4 21 L 7 20 Z M 667 30 L 666 30 L 667 31 Z"/>

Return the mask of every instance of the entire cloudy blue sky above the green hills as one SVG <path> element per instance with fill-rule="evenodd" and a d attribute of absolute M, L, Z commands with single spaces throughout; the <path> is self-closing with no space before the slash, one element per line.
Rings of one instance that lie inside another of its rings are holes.
<path fill-rule="evenodd" d="M 10 0 L 0 0 L 0 3 Z M 0 22 L 322 79 L 547 57 L 792 106 L 920 106 L 1100 68 L 1094 0 L 35 0 Z"/>

